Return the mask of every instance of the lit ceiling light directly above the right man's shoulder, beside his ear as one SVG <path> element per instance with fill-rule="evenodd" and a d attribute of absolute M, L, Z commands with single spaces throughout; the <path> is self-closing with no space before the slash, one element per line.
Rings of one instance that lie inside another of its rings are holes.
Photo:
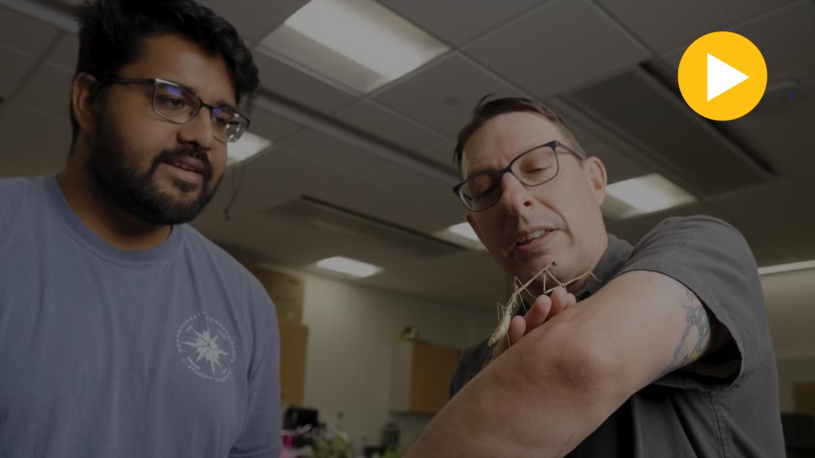
<path fill-rule="evenodd" d="M 632 218 L 696 201 L 696 197 L 659 174 L 612 183 L 606 187 L 603 213 L 614 219 Z"/>

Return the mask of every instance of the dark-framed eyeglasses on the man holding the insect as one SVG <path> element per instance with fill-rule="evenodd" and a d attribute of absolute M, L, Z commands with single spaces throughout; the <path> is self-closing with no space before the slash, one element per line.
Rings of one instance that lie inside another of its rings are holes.
<path fill-rule="evenodd" d="M 575 155 L 579 160 L 583 159 L 563 143 L 553 140 L 522 152 L 504 169 L 487 170 L 467 178 L 453 187 L 453 192 L 459 196 L 469 211 L 486 210 L 501 199 L 503 192 L 501 179 L 504 174 L 513 174 L 524 186 L 540 186 L 555 178 L 557 171 L 560 170 L 560 161 L 557 160 L 559 149 Z"/>

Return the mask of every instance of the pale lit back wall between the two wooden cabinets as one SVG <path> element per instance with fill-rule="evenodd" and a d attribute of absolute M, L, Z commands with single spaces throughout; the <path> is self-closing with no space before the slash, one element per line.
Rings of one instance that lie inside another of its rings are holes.
<path fill-rule="evenodd" d="M 390 350 L 407 324 L 441 346 L 465 348 L 489 336 L 494 313 L 460 310 L 412 297 L 304 275 L 303 324 L 309 328 L 303 404 L 329 426 L 343 412 L 343 429 L 360 443 L 379 443 L 396 421 L 403 445 L 412 443 L 430 416 L 388 412 Z"/>

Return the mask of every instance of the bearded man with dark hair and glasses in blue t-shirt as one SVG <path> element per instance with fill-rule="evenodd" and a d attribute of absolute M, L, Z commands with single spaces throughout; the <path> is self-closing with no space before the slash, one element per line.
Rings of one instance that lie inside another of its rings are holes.
<path fill-rule="evenodd" d="M 78 16 L 68 163 L 0 180 L 0 455 L 279 456 L 271 300 L 185 224 L 248 126 L 250 52 L 192 0 Z"/>

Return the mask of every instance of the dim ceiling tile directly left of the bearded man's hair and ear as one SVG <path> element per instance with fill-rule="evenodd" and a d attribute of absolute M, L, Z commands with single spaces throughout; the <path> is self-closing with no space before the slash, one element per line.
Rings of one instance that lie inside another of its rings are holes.
<path fill-rule="evenodd" d="M 73 73 L 51 64 L 41 64 L 20 90 L 16 103 L 68 119 Z"/>

